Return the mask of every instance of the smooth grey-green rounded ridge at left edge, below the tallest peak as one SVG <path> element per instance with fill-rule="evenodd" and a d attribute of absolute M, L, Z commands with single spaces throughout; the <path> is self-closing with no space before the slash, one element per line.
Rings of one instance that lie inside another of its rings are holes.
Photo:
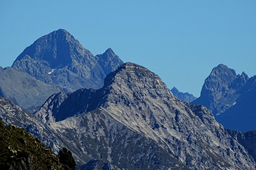
<path fill-rule="evenodd" d="M 6 97 L 28 112 L 37 111 L 49 96 L 60 91 L 61 88 L 44 83 L 12 67 L 0 69 L 0 96 Z"/>

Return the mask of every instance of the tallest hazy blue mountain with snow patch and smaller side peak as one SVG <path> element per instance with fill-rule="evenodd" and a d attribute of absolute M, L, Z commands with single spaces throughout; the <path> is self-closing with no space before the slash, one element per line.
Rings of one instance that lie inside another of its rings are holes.
<path fill-rule="evenodd" d="M 24 49 L 11 67 L 64 91 L 75 91 L 102 87 L 105 76 L 122 63 L 111 49 L 94 57 L 70 33 L 59 29 Z"/>

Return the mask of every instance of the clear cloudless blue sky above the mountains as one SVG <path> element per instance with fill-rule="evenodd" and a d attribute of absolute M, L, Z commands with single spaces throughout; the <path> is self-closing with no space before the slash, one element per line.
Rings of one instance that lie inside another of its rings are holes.
<path fill-rule="evenodd" d="M 181 92 L 200 96 L 213 67 L 256 74 L 256 1 L 1 1 L 0 66 L 66 29 L 94 55 L 109 47 Z"/>

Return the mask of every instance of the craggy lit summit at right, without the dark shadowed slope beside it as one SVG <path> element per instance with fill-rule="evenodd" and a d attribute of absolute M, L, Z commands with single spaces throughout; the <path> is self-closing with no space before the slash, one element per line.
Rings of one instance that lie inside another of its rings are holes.
<path fill-rule="evenodd" d="M 235 70 L 220 64 L 205 79 L 201 96 L 192 104 L 203 104 L 214 116 L 218 116 L 236 103 L 241 95 L 238 92 L 247 80 L 249 77 L 244 72 L 237 75 Z"/>

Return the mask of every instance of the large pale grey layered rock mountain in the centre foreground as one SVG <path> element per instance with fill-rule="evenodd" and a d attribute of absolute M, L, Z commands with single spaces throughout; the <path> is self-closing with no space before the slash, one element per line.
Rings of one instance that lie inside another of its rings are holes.
<path fill-rule="evenodd" d="M 119 169 L 255 169 L 203 105 L 177 99 L 158 75 L 125 63 L 99 90 L 56 94 L 35 113 L 84 160 Z"/>

